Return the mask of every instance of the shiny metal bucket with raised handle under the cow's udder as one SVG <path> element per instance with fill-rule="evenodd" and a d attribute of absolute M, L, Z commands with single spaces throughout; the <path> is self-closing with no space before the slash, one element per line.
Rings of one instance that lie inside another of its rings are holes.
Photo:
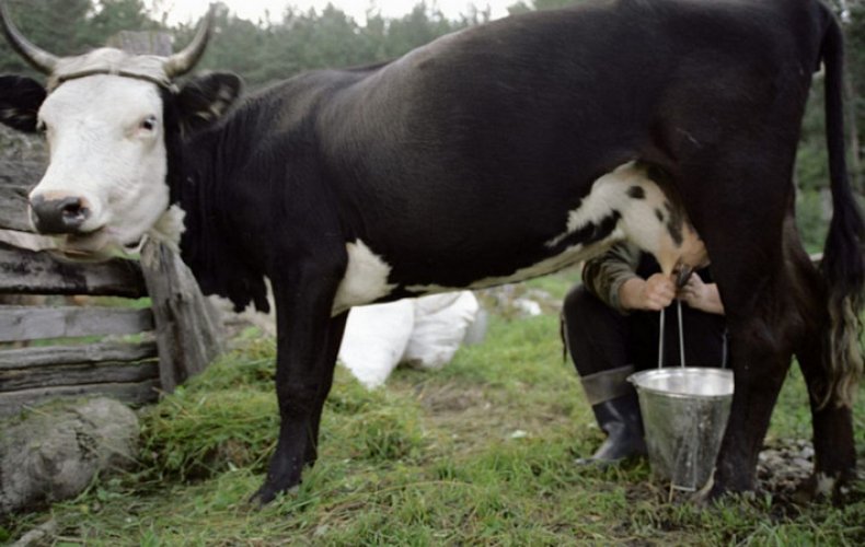
<path fill-rule="evenodd" d="M 695 491 L 712 476 L 733 403 L 733 371 L 685 366 L 681 301 L 679 349 L 682 366 L 661 368 L 664 311 L 658 369 L 628 376 L 639 398 L 653 474 L 679 490 Z M 726 358 L 725 358 L 726 359 Z"/>

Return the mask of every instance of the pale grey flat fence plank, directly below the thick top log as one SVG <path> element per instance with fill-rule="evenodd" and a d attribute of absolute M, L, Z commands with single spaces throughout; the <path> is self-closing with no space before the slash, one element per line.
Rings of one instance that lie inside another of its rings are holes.
<path fill-rule="evenodd" d="M 0 306 L 0 341 L 129 335 L 152 329 L 150 310 Z"/>

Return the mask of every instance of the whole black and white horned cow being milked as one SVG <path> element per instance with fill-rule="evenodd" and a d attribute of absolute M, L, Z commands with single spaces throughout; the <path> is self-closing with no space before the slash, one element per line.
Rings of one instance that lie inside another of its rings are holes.
<path fill-rule="evenodd" d="M 49 77 L 0 79 L 0 120 L 50 146 L 35 226 L 69 256 L 178 241 L 201 288 L 238 309 L 266 307 L 273 284 L 281 426 L 257 500 L 315 461 L 351 306 L 527 279 L 622 238 L 667 271 L 697 266 L 685 211 L 736 374 L 712 493 L 753 487 L 794 353 L 812 486 L 839 493 L 852 478 L 865 230 L 844 164 L 841 34 L 819 1 L 586 2 L 244 100 L 232 74 L 176 79 L 209 23 L 171 58 L 60 58 L 0 5 L 11 45 Z M 818 272 L 792 223 L 792 173 L 821 62 L 834 216 Z"/>

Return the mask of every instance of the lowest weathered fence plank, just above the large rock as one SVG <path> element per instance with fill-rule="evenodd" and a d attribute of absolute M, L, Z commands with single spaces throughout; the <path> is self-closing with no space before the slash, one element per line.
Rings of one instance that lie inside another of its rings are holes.
<path fill-rule="evenodd" d="M 82 384 L 73 386 L 37 387 L 20 392 L 0 393 L 0 417 L 12 416 L 21 410 L 57 397 L 83 397 L 101 395 L 114 397 L 129 405 L 143 405 L 159 398 L 159 381 L 145 380 L 129 384 Z"/>

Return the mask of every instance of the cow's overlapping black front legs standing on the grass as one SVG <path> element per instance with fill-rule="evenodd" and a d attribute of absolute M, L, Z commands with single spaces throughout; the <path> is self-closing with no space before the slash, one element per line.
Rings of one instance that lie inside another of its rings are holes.
<path fill-rule="evenodd" d="M 267 478 L 253 501 L 267 503 L 300 482 L 315 459 L 322 407 L 333 381 L 345 316 L 331 317 L 335 270 L 308 268 L 290 282 L 273 281 L 277 316 L 276 394 L 279 440 Z"/>

